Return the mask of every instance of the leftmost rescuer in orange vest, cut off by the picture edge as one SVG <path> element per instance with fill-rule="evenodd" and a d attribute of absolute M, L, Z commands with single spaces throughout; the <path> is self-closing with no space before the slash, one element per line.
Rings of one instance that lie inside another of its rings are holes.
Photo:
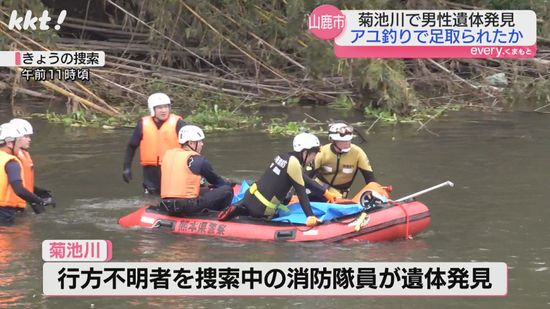
<path fill-rule="evenodd" d="M 22 134 L 9 123 L 0 126 L 0 223 L 14 222 L 15 214 L 30 203 L 34 212 L 44 212 L 51 205 L 25 189 L 21 163 L 14 155 L 15 139 Z"/>

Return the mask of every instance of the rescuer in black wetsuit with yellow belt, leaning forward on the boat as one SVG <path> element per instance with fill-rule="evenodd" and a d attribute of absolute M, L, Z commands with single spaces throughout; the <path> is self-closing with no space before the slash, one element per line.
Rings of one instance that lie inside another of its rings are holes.
<path fill-rule="evenodd" d="M 311 210 L 306 193 L 306 182 L 314 183 L 304 175 L 303 167 L 314 160 L 321 143 L 311 133 L 300 133 L 293 141 L 293 152 L 280 154 L 269 165 L 259 181 L 252 184 L 240 203 L 222 211 L 218 220 L 226 221 L 237 215 L 249 214 L 252 217 L 272 217 L 277 208 L 284 208 L 287 193 L 294 187 L 304 214 L 306 225 L 322 223 Z"/>

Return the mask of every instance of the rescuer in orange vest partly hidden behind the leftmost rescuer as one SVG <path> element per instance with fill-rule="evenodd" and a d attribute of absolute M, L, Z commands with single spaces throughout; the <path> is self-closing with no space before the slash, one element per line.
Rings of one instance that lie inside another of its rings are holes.
<path fill-rule="evenodd" d="M 16 157 L 21 162 L 23 168 L 23 175 L 25 175 L 25 188 L 40 198 L 49 199 L 50 203 L 54 204 L 51 191 L 39 188 L 35 186 L 34 182 L 34 163 L 29 153 L 29 147 L 31 145 L 31 135 L 34 134 L 32 125 L 25 119 L 15 118 L 10 121 L 23 136 L 15 140 L 15 153 Z"/>

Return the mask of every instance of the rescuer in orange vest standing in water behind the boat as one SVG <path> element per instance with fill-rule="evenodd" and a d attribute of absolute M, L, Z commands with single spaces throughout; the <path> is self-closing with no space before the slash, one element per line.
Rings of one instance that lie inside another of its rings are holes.
<path fill-rule="evenodd" d="M 132 180 L 132 160 L 139 147 L 146 194 L 160 194 L 160 165 L 166 150 L 179 147 L 178 132 L 185 125 L 180 116 L 170 113 L 170 98 L 153 93 L 147 100 L 150 116 L 143 117 L 134 129 L 126 147 L 122 179 Z"/>

